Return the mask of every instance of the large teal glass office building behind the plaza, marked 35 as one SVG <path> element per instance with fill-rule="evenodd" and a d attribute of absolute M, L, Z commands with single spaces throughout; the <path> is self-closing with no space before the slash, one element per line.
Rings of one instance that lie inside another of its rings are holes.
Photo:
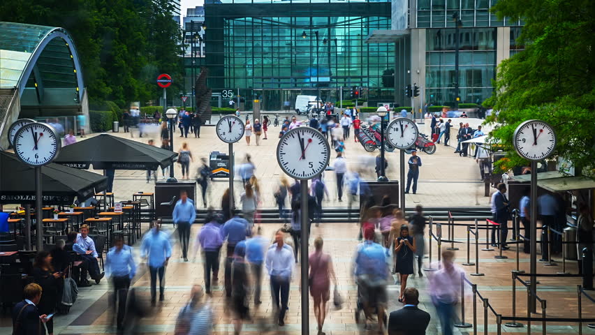
<path fill-rule="evenodd" d="M 207 82 L 223 101 L 242 97 L 251 108 L 281 110 L 300 94 L 344 99 L 363 87 L 369 101 L 394 96 L 394 43 L 367 44 L 390 29 L 387 1 L 208 1 Z"/>

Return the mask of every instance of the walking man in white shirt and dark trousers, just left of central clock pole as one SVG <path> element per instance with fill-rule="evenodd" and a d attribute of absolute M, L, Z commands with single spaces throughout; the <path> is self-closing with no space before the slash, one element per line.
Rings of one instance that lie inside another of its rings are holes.
<path fill-rule="evenodd" d="M 277 313 L 279 326 L 285 325 L 285 313 L 289 300 L 289 283 L 293 272 L 293 251 L 291 246 L 285 247 L 284 234 L 281 230 L 275 233 L 275 244 L 270 246 L 265 264 L 270 276 L 273 306 Z"/>

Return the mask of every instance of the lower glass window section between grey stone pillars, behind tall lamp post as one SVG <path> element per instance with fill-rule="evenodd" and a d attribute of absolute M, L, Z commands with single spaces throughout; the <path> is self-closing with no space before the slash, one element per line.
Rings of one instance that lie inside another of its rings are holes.
<path fill-rule="evenodd" d="M 459 94 L 461 103 L 481 103 L 492 95 L 496 71 L 495 28 L 460 29 Z M 455 101 L 455 29 L 427 29 L 426 100 Z"/>

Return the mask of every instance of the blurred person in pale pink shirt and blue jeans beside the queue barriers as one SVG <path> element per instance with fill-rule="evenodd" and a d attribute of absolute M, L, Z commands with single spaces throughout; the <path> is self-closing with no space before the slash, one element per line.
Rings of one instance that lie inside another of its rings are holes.
<path fill-rule="evenodd" d="M 461 297 L 461 280 L 464 278 L 464 271 L 455 265 L 454 258 L 453 251 L 443 251 L 441 269 L 428 275 L 429 292 L 444 335 L 453 335 L 455 305 Z"/>

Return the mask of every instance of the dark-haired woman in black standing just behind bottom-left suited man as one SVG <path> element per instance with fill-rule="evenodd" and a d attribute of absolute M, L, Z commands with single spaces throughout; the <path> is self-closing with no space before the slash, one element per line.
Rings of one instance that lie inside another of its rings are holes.
<path fill-rule="evenodd" d="M 52 255 L 47 251 L 40 251 L 35 257 L 33 265 L 34 282 L 38 283 L 43 290 L 41 301 L 37 306 L 40 315 L 50 315 L 56 310 L 58 298 L 61 297 L 61 288 L 64 285 L 61 272 L 54 271 L 52 267 Z M 54 334 L 54 318 L 45 322 L 47 334 Z"/>

